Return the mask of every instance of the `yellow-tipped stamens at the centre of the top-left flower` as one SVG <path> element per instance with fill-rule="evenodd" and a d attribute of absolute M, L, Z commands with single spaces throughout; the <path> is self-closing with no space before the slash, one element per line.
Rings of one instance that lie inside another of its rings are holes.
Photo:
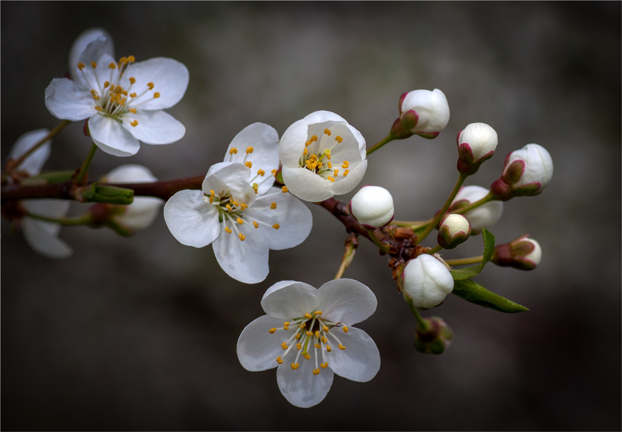
<path fill-rule="evenodd" d="M 136 114 L 136 108 L 144 103 L 160 97 L 158 91 L 154 91 L 155 84 L 147 83 L 144 87 L 134 87 L 136 78 L 128 71 L 131 71 L 131 65 L 136 59 L 133 55 L 129 57 L 121 57 L 118 63 L 111 62 L 108 65 L 98 65 L 97 62 L 91 62 L 88 65 L 78 63 L 78 69 L 91 87 L 91 96 L 95 101 L 95 109 L 99 114 L 116 119 L 124 119 L 126 116 L 131 118 L 131 114 Z M 97 68 L 108 68 L 110 75 L 108 80 L 103 83 L 100 77 L 103 75 L 98 73 Z M 138 126 L 138 121 L 132 119 L 130 124 L 134 127 Z"/>

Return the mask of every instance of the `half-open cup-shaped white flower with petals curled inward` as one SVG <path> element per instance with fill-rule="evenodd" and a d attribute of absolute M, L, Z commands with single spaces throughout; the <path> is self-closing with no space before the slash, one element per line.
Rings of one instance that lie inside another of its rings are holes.
<path fill-rule="evenodd" d="M 305 201 L 353 190 L 367 169 L 365 139 L 343 117 L 315 111 L 292 124 L 279 142 L 283 181 Z"/>

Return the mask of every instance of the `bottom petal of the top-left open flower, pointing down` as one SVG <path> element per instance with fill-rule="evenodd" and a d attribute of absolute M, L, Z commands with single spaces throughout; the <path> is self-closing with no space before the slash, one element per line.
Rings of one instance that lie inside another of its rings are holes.
<path fill-rule="evenodd" d="M 141 144 L 118 121 L 97 115 L 88 119 L 88 129 L 93 142 L 113 156 L 135 155 Z"/>

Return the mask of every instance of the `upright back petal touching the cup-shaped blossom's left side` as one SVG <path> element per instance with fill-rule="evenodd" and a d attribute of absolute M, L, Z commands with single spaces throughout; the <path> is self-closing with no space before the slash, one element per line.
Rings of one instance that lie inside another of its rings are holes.
<path fill-rule="evenodd" d="M 248 147 L 253 147 L 253 152 L 247 155 Z M 237 149 L 238 153 L 231 155 L 229 151 L 233 148 Z M 254 183 L 261 183 L 266 179 L 266 175 L 270 176 L 272 170 L 279 168 L 279 134 L 274 127 L 264 123 L 253 123 L 244 127 L 234 137 L 225 153 L 225 162 L 238 162 L 244 165 L 248 161 L 253 164 L 251 178 L 256 177 L 260 169 L 266 172 L 264 177 L 256 178 Z M 266 193 L 272 183 L 274 182 L 267 180 L 266 183 L 259 185 L 259 195 Z"/>

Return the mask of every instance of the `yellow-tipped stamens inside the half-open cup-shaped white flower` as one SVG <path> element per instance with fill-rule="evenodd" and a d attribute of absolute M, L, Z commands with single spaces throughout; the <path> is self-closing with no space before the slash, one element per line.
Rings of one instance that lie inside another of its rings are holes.
<path fill-rule="evenodd" d="M 343 125 L 343 123 L 336 124 Z M 350 168 L 350 162 L 344 160 L 341 164 L 337 163 L 337 166 L 333 167 L 333 162 L 330 160 L 331 151 L 341 142 L 343 142 L 343 137 L 339 135 L 333 137 L 330 127 L 324 129 L 320 139 L 313 134 L 305 142 L 305 149 L 302 151 L 302 155 L 300 155 L 300 167 L 307 168 L 331 182 L 335 182 L 335 179 L 340 175 L 346 177 L 350 173 L 348 169 Z"/>

